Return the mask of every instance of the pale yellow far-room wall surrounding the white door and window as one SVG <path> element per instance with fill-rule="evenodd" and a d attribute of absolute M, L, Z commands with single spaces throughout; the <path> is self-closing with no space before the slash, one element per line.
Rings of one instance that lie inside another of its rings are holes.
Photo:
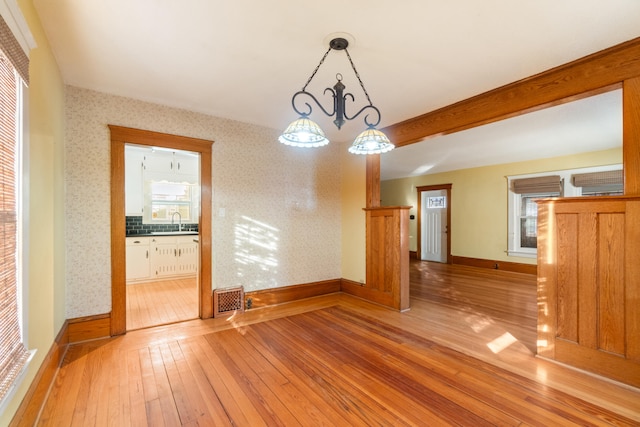
<path fill-rule="evenodd" d="M 451 190 L 451 254 L 470 258 L 535 264 L 535 259 L 509 257 L 507 250 L 507 180 L 509 175 L 622 163 L 622 149 L 612 149 L 530 162 L 509 163 L 396 179 L 381 183 L 384 206 L 413 206 L 416 188 L 453 184 Z M 410 250 L 417 249 L 417 220 L 410 221 Z"/>

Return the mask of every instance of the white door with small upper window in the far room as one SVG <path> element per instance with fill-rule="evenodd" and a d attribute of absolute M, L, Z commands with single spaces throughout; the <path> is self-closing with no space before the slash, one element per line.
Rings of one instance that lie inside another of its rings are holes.
<path fill-rule="evenodd" d="M 420 195 L 420 258 L 425 261 L 447 262 L 447 190 L 423 191 Z"/>

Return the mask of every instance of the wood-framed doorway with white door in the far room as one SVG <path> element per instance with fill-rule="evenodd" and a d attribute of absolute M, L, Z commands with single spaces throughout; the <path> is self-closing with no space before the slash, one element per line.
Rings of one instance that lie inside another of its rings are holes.
<path fill-rule="evenodd" d="M 417 258 L 451 264 L 451 184 L 418 187 Z"/>

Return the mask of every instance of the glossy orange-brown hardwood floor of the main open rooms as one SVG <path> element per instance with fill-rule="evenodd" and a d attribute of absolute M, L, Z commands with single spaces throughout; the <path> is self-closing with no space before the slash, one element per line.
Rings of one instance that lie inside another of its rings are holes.
<path fill-rule="evenodd" d="M 39 425 L 640 423 L 640 390 L 534 356 L 535 280 L 411 268 L 405 313 L 332 294 L 71 346 Z"/>

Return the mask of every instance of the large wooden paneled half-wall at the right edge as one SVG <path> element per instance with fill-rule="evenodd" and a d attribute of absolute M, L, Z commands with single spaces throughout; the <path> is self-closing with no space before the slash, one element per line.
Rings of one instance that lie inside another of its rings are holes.
<path fill-rule="evenodd" d="M 538 208 L 538 354 L 640 387 L 640 198 Z"/>

